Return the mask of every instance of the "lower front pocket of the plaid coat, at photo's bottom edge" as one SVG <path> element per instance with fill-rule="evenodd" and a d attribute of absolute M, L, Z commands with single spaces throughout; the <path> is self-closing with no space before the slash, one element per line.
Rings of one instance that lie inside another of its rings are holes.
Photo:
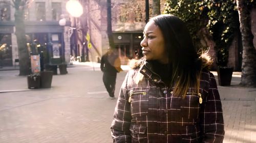
<path fill-rule="evenodd" d="M 146 127 L 142 125 L 130 126 L 132 142 L 147 142 Z"/>

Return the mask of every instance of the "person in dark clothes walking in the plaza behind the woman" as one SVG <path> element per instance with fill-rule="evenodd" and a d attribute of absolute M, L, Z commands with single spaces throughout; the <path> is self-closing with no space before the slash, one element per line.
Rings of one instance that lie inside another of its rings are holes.
<path fill-rule="evenodd" d="M 115 99 L 115 86 L 117 72 L 122 71 L 121 62 L 116 49 L 108 49 L 100 61 L 103 72 L 103 83 L 111 99 Z"/>

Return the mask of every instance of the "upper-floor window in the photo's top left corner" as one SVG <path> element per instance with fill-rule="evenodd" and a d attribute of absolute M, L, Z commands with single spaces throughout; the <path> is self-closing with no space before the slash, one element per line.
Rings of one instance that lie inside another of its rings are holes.
<path fill-rule="evenodd" d="M 0 21 L 9 21 L 11 15 L 10 3 L 0 2 Z"/>

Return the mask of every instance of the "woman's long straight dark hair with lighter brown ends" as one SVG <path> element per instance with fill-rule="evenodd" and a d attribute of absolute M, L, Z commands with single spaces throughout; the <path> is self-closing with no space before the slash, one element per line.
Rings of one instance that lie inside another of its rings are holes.
<path fill-rule="evenodd" d="M 176 96 L 186 95 L 189 87 L 199 92 L 202 61 L 194 47 L 185 23 L 178 17 L 163 14 L 151 20 L 160 28 L 168 56 L 169 73 L 172 73 L 170 87 L 174 86 Z"/>

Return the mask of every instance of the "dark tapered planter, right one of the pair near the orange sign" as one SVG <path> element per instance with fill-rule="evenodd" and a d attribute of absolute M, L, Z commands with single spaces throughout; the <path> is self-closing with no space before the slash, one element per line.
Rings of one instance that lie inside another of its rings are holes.
<path fill-rule="evenodd" d="M 41 74 L 40 87 L 51 88 L 53 71 L 42 71 L 40 72 L 40 74 Z"/>

